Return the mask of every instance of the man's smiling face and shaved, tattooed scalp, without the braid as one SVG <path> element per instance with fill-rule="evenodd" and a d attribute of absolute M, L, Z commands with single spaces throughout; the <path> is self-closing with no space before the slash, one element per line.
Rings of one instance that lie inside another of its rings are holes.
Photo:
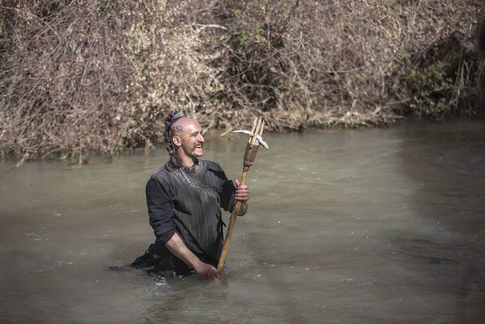
<path fill-rule="evenodd" d="M 202 150 L 204 136 L 202 136 L 202 127 L 197 120 L 189 118 L 180 120 L 172 126 L 172 133 L 174 134 L 174 144 L 180 146 L 185 155 L 191 158 L 204 155 Z"/>

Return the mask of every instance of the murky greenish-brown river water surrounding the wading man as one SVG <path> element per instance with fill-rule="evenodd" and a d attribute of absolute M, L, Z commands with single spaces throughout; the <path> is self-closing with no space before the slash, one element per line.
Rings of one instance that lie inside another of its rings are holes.
<path fill-rule="evenodd" d="M 217 283 L 121 271 L 154 239 L 144 189 L 163 148 L 5 161 L 0 321 L 484 323 L 485 122 L 265 138 Z M 245 141 L 208 138 L 204 158 L 239 178 Z"/>

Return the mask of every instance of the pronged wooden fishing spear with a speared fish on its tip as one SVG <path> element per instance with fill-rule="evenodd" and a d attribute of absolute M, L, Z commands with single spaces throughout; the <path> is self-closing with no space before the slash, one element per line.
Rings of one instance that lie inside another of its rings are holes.
<path fill-rule="evenodd" d="M 266 150 L 269 150 L 268 144 L 264 141 L 261 135 L 263 134 L 264 121 L 263 119 L 255 118 L 253 121 L 253 127 L 250 131 L 248 130 L 238 130 L 232 133 L 243 133 L 249 135 L 249 140 L 246 145 L 246 152 L 244 152 L 244 159 L 242 160 L 242 175 L 240 186 L 246 184 L 247 172 L 249 167 L 253 165 L 254 159 L 256 158 L 256 153 L 258 153 L 259 144 L 261 144 Z M 219 264 L 217 265 L 217 272 L 222 272 L 222 267 L 224 266 L 224 261 L 226 260 L 227 250 L 229 249 L 229 244 L 231 243 L 232 229 L 234 228 L 234 223 L 236 222 L 236 217 L 239 213 L 239 208 L 241 208 L 241 202 L 236 202 L 234 209 L 231 213 L 231 219 L 229 220 L 229 225 L 227 226 L 226 241 L 222 248 L 221 257 L 219 258 Z"/>

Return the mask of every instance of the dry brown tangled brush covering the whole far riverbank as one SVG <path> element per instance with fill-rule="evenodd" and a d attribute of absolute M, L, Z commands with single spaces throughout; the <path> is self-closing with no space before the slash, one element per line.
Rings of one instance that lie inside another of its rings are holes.
<path fill-rule="evenodd" d="M 226 131 L 462 114 L 476 60 L 419 67 L 483 15 L 482 0 L 1 0 L 1 153 L 149 147 L 172 109 Z"/>

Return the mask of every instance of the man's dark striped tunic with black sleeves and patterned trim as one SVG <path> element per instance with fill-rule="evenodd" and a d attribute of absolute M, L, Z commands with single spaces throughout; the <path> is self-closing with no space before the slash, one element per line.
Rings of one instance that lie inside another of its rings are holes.
<path fill-rule="evenodd" d="M 157 237 L 153 252 L 170 255 L 165 244 L 177 232 L 196 256 L 217 263 L 224 241 L 220 207 L 232 211 L 236 188 L 219 164 L 198 162 L 196 174 L 186 169 L 171 172 L 162 166 L 148 180 L 146 203 Z"/>

